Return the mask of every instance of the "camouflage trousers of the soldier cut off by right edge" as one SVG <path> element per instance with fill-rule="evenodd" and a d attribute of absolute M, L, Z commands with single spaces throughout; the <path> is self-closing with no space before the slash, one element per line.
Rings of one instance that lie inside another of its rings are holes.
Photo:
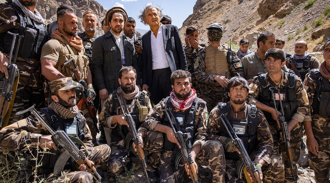
<path fill-rule="evenodd" d="M 316 183 L 330 183 L 330 123 L 329 118 L 313 117 L 313 134 L 318 143 L 318 154 L 309 153 Z"/>

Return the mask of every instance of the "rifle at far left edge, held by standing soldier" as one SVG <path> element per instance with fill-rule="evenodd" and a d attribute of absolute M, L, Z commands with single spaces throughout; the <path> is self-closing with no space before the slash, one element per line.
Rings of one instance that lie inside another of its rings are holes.
<path fill-rule="evenodd" d="M 3 73 L 3 77 L 0 79 L 0 88 L 2 88 L 1 97 L 0 97 L 0 129 L 2 128 L 2 125 L 6 126 L 8 124 L 9 117 L 7 118 L 6 116 L 8 116 L 7 115 L 8 112 L 11 113 L 14 105 L 14 100 L 12 101 L 12 99 L 15 98 L 17 83 L 18 83 L 18 68 L 16 65 L 16 60 L 17 60 L 20 40 L 23 37 L 23 36 L 18 36 L 18 34 L 14 34 L 11 32 L 7 32 L 7 33 L 13 35 L 13 41 L 12 41 L 12 46 L 10 48 L 8 65 L 7 65 L 9 77 L 7 79 L 5 73 Z M 12 62 L 13 50 L 16 44 L 17 36 L 18 36 L 18 43 L 16 46 L 14 61 Z"/>

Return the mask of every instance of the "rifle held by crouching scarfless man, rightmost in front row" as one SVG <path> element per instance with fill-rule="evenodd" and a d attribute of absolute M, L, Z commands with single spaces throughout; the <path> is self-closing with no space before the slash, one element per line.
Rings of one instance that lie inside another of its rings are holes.
<path fill-rule="evenodd" d="M 258 169 L 255 166 L 254 162 L 251 161 L 250 156 L 248 155 L 247 150 L 244 147 L 243 141 L 242 139 L 238 138 L 233 127 L 231 126 L 230 122 L 228 121 L 227 114 L 221 114 L 220 115 L 220 120 L 222 121 L 224 127 L 226 128 L 230 138 L 234 141 L 234 144 L 237 146 L 238 150 L 241 152 L 240 157 L 244 162 L 244 165 L 247 169 L 247 172 L 250 173 L 252 180 L 254 183 L 262 183 L 262 180 L 260 180 L 259 178 L 259 173 L 258 173 Z M 243 167 L 242 167 L 243 168 Z M 242 170 L 238 170 L 238 175 L 239 178 L 242 178 Z M 249 182 L 249 178 L 247 176 L 247 173 L 245 173 L 245 177 L 247 179 L 247 181 Z"/>

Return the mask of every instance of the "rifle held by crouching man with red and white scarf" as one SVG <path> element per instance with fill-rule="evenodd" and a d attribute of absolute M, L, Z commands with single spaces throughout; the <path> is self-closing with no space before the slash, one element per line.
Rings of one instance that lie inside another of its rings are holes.
<path fill-rule="evenodd" d="M 160 111 L 164 111 L 166 113 L 166 116 L 167 116 L 168 120 L 170 121 L 172 129 L 174 131 L 175 137 L 178 139 L 178 141 L 181 145 L 180 151 L 182 153 L 182 157 L 183 157 L 184 162 L 186 162 L 189 165 L 190 177 L 191 177 L 192 182 L 193 183 L 198 183 L 199 181 L 198 181 L 196 167 L 193 164 L 194 161 L 191 158 L 191 154 L 190 154 L 191 134 L 190 133 L 182 133 L 182 131 L 180 131 L 180 129 L 177 126 L 176 120 L 175 120 L 175 118 L 174 118 L 174 116 L 171 112 L 172 111 L 171 108 L 161 109 Z"/>

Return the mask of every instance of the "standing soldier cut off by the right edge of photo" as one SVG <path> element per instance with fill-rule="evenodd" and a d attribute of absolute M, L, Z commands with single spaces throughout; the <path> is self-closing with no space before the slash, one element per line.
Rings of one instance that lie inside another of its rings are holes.
<path fill-rule="evenodd" d="M 316 183 L 330 182 L 330 41 L 324 44 L 323 58 L 320 68 L 312 69 L 304 81 L 313 115 L 304 119 L 304 127 Z"/>

